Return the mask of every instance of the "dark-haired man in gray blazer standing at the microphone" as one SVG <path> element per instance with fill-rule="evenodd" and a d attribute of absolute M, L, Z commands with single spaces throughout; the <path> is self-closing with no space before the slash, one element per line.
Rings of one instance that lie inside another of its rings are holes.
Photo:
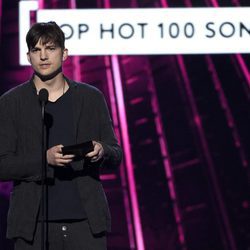
<path fill-rule="evenodd" d="M 121 148 L 100 91 L 63 75 L 64 41 L 55 22 L 34 24 L 26 36 L 33 77 L 0 98 L 0 179 L 14 183 L 7 237 L 15 240 L 16 250 L 41 248 L 42 88 L 49 93 L 49 250 L 106 249 L 110 214 L 99 169 L 117 167 Z M 83 159 L 62 154 L 64 146 L 89 140 L 94 149 Z"/>

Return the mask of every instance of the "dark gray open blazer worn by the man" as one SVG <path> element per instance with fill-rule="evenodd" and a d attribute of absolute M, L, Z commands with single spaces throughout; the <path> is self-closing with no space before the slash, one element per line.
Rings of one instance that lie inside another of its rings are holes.
<path fill-rule="evenodd" d="M 104 158 L 97 163 L 72 163 L 82 205 L 93 233 L 110 231 L 110 213 L 99 179 L 101 166 L 115 168 L 122 150 L 114 134 L 102 93 L 65 78 L 72 90 L 75 142 L 99 141 Z M 41 200 L 41 111 L 33 80 L 0 97 L 0 180 L 13 181 L 7 237 L 32 240 Z M 47 176 L 53 178 L 53 168 Z"/>

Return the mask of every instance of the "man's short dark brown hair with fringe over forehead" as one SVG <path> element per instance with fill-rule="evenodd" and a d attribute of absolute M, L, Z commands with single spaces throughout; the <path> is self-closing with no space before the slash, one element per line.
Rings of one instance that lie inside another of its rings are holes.
<path fill-rule="evenodd" d="M 26 43 L 29 51 L 36 46 L 39 39 L 41 39 L 43 45 L 52 42 L 62 49 L 65 48 L 64 33 L 56 22 L 35 23 L 30 28 L 26 35 Z"/>

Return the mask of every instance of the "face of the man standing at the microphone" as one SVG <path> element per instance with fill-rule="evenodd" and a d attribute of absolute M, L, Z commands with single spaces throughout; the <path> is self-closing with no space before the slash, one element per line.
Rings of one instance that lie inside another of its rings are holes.
<path fill-rule="evenodd" d="M 68 50 L 56 46 L 54 43 L 43 45 L 41 39 L 36 46 L 27 53 L 32 68 L 43 76 L 50 75 L 62 66 L 66 60 Z"/>

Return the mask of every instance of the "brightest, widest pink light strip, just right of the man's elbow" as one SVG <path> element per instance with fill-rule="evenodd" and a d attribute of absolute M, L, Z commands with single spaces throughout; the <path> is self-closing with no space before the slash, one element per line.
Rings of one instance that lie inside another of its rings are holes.
<path fill-rule="evenodd" d="M 132 163 L 132 155 L 130 151 L 130 140 L 128 135 L 128 127 L 127 127 L 127 117 L 126 117 L 126 110 L 124 104 L 124 96 L 122 90 L 122 81 L 119 69 L 119 62 L 117 56 L 111 56 L 112 62 L 112 69 L 113 69 L 113 76 L 114 76 L 114 83 L 115 83 L 115 93 L 116 99 L 118 103 L 118 111 L 119 111 L 119 120 L 120 120 L 120 127 L 122 133 L 122 141 L 123 141 L 123 151 L 125 156 L 125 162 L 127 166 L 127 174 L 128 174 L 128 181 L 129 181 L 129 192 L 130 198 L 132 203 L 132 213 L 134 219 L 134 227 L 135 227 L 135 237 L 137 242 L 137 249 L 144 250 L 144 239 L 142 233 L 142 225 L 139 213 L 139 205 L 137 199 L 137 190 L 136 190 L 136 183 L 135 183 L 135 176 L 133 170 L 133 163 Z"/>

